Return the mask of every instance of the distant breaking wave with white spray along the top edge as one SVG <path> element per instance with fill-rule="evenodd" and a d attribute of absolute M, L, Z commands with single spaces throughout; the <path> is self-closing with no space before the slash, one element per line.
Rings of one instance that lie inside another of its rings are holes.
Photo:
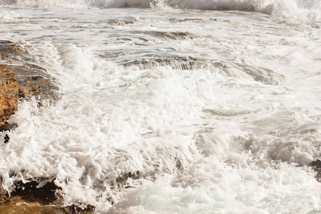
<path fill-rule="evenodd" d="M 0 0 L 2 6 L 172 8 L 258 11 L 285 19 L 321 21 L 319 0 Z"/>

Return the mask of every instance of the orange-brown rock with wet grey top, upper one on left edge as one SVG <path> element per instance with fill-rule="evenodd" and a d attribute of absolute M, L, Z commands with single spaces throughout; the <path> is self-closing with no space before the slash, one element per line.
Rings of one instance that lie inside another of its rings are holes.
<path fill-rule="evenodd" d="M 13 126 L 6 123 L 17 111 L 21 98 L 55 98 L 56 87 L 44 68 L 36 66 L 28 51 L 11 41 L 0 40 L 0 131 Z"/>

